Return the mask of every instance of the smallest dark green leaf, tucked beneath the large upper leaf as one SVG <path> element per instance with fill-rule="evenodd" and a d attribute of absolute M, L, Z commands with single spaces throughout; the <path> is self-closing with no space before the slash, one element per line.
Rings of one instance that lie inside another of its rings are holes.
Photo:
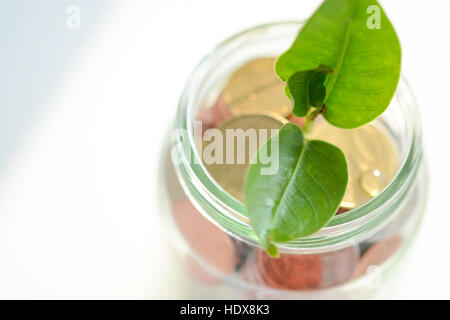
<path fill-rule="evenodd" d="M 321 108 L 325 99 L 325 79 L 332 72 L 329 66 L 293 73 L 287 81 L 287 96 L 294 106 L 294 114 L 304 117 L 311 107 Z"/>

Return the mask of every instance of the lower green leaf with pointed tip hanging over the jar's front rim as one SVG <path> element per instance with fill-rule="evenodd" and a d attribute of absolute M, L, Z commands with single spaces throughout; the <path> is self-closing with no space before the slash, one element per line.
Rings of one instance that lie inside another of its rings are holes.
<path fill-rule="evenodd" d="M 272 152 L 273 145 L 278 148 Z M 260 155 L 272 157 L 276 152 L 278 171 L 263 175 L 261 169 L 270 164 L 262 164 Z M 274 243 L 311 235 L 336 213 L 347 187 L 347 162 L 335 146 L 305 140 L 292 123 L 269 139 L 255 160 L 245 181 L 250 223 L 266 251 L 277 256 Z"/>

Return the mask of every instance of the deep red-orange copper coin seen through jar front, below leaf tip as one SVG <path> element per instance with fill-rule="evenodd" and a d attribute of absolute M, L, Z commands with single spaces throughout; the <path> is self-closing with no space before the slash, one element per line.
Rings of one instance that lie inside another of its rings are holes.
<path fill-rule="evenodd" d="M 280 254 L 275 259 L 260 249 L 258 270 L 272 288 L 305 290 L 320 286 L 323 264 L 318 255 Z"/>

